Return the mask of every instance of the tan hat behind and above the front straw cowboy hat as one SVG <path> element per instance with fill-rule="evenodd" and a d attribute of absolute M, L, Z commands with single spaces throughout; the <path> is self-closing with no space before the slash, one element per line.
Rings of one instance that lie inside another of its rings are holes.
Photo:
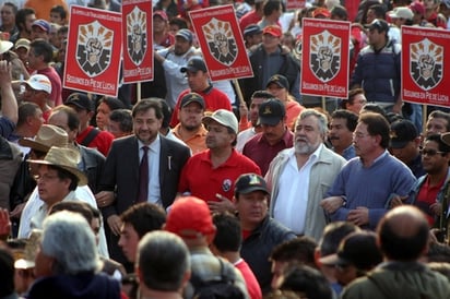
<path fill-rule="evenodd" d="M 51 146 L 68 147 L 68 133 L 59 127 L 43 124 L 34 140 L 21 139 L 19 144 L 47 153 Z"/>

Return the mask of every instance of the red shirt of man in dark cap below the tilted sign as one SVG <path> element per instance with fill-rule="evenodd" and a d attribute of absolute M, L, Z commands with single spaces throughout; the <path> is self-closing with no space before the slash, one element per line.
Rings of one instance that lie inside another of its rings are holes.
<path fill-rule="evenodd" d="M 180 109 L 180 100 L 181 98 L 191 93 L 191 89 L 186 89 L 183 91 L 177 99 L 177 104 L 175 105 L 174 112 L 171 113 L 171 119 L 170 119 L 170 127 L 175 128 L 175 125 L 178 124 L 178 111 Z M 204 105 L 206 107 L 205 112 L 214 112 L 215 110 L 218 109 L 226 109 L 228 111 L 233 111 L 232 104 L 229 103 L 228 96 L 223 93 L 222 91 L 214 88 L 213 86 L 208 87 L 203 92 L 196 92 L 199 95 L 201 95 L 204 99 Z"/>

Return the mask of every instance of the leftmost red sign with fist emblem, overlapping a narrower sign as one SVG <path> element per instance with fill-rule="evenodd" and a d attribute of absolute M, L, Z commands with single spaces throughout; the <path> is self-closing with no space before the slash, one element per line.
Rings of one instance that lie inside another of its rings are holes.
<path fill-rule="evenodd" d="M 120 13 L 72 5 L 66 53 L 66 88 L 117 96 Z"/>

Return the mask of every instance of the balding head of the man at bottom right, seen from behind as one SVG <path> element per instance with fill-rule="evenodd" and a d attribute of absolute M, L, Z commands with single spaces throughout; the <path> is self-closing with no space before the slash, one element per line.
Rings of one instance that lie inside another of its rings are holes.
<path fill-rule="evenodd" d="M 390 211 L 378 225 L 381 251 L 392 261 L 415 261 L 428 247 L 428 223 L 414 206 L 400 206 Z"/>

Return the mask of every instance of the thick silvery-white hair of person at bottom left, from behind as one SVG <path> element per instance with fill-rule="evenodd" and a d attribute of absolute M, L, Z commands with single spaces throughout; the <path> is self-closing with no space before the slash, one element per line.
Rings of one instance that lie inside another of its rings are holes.
<path fill-rule="evenodd" d="M 95 236 L 78 213 L 61 211 L 44 220 L 42 251 L 56 260 L 54 274 L 95 272 L 99 260 Z"/>

